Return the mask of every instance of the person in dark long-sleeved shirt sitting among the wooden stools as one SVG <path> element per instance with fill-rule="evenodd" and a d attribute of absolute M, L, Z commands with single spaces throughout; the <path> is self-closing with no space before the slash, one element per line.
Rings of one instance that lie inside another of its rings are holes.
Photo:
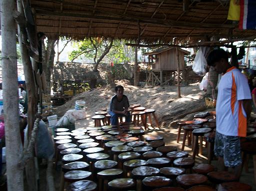
<path fill-rule="evenodd" d="M 111 125 L 117 125 L 118 117 L 125 117 L 125 122 L 130 122 L 129 101 L 127 96 L 123 95 L 123 87 L 118 85 L 114 91 L 115 95 L 111 98 L 109 107 Z"/>

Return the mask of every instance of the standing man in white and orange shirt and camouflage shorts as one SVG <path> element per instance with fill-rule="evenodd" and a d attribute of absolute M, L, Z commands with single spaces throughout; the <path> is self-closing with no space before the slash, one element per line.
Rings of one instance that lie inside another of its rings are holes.
<path fill-rule="evenodd" d="M 210 52 L 207 64 L 222 74 L 216 103 L 216 135 L 214 154 L 218 156 L 218 171 L 241 174 L 239 137 L 246 136 L 247 119 L 251 112 L 251 95 L 246 77 L 228 63 L 223 49 Z"/>

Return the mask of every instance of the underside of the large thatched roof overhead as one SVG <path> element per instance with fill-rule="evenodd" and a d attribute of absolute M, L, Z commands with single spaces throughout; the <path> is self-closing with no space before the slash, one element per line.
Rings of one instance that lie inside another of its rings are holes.
<path fill-rule="evenodd" d="M 188 10 L 183 11 L 183 1 Z M 207 37 L 254 39 L 227 20 L 229 0 L 30 0 L 47 36 L 114 37 L 175 43 Z M 140 34 L 140 35 L 138 35 Z M 173 40 L 173 37 L 176 37 Z"/>

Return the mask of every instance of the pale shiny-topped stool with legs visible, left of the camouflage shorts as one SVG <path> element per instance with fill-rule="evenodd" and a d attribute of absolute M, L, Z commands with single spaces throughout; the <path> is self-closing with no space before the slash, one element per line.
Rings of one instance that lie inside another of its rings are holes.
<path fill-rule="evenodd" d="M 199 128 L 192 131 L 192 134 L 194 136 L 194 145 L 193 145 L 193 155 L 192 158 L 195 159 L 195 155 L 198 151 L 198 137 L 204 136 L 204 134 L 211 132 L 211 128 Z M 199 153 L 202 154 L 202 137 L 200 139 L 200 147 L 199 147 Z"/>

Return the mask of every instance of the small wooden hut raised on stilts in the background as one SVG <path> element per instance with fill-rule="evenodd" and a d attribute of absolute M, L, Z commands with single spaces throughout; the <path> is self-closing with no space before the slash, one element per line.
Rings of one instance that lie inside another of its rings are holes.
<path fill-rule="evenodd" d="M 175 76 L 179 71 L 184 69 L 184 55 L 190 52 L 181 48 L 175 47 L 160 47 L 151 52 L 145 53 L 148 55 L 148 64 L 152 66 L 149 71 L 148 81 L 151 81 L 152 86 L 156 84 L 166 85 L 171 80 L 175 82 Z M 178 77 L 180 78 L 180 77 Z"/>

